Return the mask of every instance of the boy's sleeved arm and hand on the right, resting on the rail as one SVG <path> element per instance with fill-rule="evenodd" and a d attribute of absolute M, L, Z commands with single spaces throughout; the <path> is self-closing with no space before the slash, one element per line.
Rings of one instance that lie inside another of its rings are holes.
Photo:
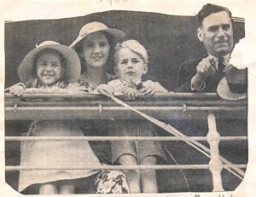
<path fill-rule="evenodd" d="M 143 82 L 143 88 L 140 90 L 144 95 L 153 96 L 156 93 L 168 92 L 162 85 L 158 82 L 153 82 L 151 80 Z"/>

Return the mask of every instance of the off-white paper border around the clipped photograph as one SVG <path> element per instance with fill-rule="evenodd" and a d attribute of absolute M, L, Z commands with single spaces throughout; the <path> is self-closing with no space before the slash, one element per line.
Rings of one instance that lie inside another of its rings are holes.
<path fill-rule="evenodd" d="M 112 5 L 110 3 L 112 2 Z M 256 20 L 253 17 L 256 12 L 254 0 L 2 0 L 0 2 L 0 87 L 1 87 L 1 112 L 0 116 L 0 196 L 21 196 L 4 183 L 4 119 L 3 119 L 3 83 L 4 83 L 4 21 L 5 20 L 38 20 L 38 19 L 60 19 L 81 16 L 107 10 L 134 10 L 156 12 L 162 14 L 195 15 L 205 3 L 215 3 L 228 7 L 232 14 L 244 17 L 246 20 L 247 46 L 244 47 L 244 56 L 252 57 L 256 54 Z M 29 30 L 28 30 L 29 31 Z M 249 56 L 248 56 L 249 55 Z M 225 193 L 177 193 L 177 194 L 152 194 L 152 196 L 191 196 L 200 194 L 200 197 L 216 196 L 256 196 L 256 63 L 251 64 L 248 69 L 249 94 L 248 94 L 248 150 L 249 163 L 246 177 L 235 192 Z M 254 117 L 254 118 L 253 118 Z M 29 196 L 29 195 L 27 195 Z M 42 195 L 40 195 L 42 196 Z M 62 195 L 63 196 L 63 195 Z M 80 194 L 80 196 L 103 196 L 102 194 Z M 114 194 L 108 196 L 150 196 L 149 194 Z"/>

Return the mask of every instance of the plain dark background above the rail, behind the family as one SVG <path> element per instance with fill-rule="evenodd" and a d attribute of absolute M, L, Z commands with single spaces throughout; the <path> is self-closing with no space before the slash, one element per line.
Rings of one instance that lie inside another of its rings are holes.
<path fill-rule="evenodd" d="M 148 49 L 148 75 L 173 90 L 183 61 L 206 54 L 196 36 L 195 17 L 132 11 L 108 11 L 61 20 L 27 20 L 5 24 L 5 87 L 19 82 L 18 67 L 36 43 L 54 40 L 69 46 L 86 23 L 100 21 L 137 39 Z M 245 35 L 243 22 L 234 23 L 235 42 Z M 111 67 L 108 68 L 111 72 Z"/>

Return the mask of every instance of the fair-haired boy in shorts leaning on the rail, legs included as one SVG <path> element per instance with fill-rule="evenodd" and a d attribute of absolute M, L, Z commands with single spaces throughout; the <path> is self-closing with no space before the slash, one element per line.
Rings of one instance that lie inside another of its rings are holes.
<path fill-rule="evenodd" d="M 116 92 L 124 93 L 129 99 L 134 99 L 137 93 L 154 95 L 157 92 L 167 92 L 158 82 L 142 81 L 143 74 L 148 72 L 148 54 L 142 44 L 136 40 L 118 43 L 114 55 L 114 71 L 118 79 L 108 85 L 101 85 L 104 95 Z M 154 127 L 142 120 L 116 121 L 113 136 L 155 136 Z M 152 141 L 121 141 L 112 142 L 113 163 L 120 165 L 155 165 L 157 157 L 165 158 L 160 142 Z M 131 193 L 157 193 L 158 187 L 154 170 L 125 170 L 125 176 Z M 140 181 L 142 188 L 140 187 Z"/>

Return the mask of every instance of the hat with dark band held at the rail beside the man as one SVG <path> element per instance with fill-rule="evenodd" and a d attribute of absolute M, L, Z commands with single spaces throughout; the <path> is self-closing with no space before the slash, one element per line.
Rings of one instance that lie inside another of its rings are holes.
<path fill-rule="evenodd" d="M 217 87 L 218 96 L 226 100 L 242 100 L 247 98 L 247 69 L 230 67 Z"/>

